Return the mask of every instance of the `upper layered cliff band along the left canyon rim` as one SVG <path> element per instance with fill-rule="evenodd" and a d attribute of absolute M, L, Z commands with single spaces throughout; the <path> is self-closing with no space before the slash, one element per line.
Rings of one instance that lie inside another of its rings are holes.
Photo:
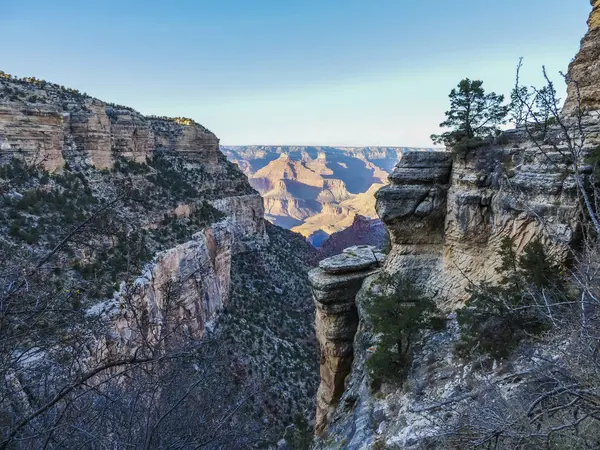
<path fill-rule="evenodd" d="M 217 137 L 189 119 L 146 117 L 50 83 L 0 77 L 3 159 L 23 153 L 51 171 L 65 161 L 105 169 L 119 156 L 145 162 L 171 150 L 219 170 L 218 149 Z"/>

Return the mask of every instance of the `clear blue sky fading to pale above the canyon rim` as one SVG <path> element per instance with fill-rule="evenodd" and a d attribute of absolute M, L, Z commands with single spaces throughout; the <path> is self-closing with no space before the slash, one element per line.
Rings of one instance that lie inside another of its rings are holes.
<path fill-rule="evenodd" d="M 0 70 L 225 145 L 431 146 L 462 79 L 562 86 L 588 0 L 0 0 Z M 562 91 L 562 87 L 560 88 Z M 562 92 L 561 92 L 562 93 Z"/>

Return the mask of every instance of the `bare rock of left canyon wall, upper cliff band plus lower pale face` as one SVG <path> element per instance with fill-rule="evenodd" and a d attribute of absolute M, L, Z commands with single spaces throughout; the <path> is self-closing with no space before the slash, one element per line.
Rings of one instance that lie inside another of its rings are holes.
<path fill-rule="evenodd" d="M 122 209 L 117 214 L 131 215 L 132 227 L 157 229 L 165 226 L 163 216 L 190 217 L 206 200 L 225 218 L 155 254 L 133 286 L 122 286 L 115 298 L 87 305 L 90 314 L 110 317 L 114 329 L 106 342 L 118 342 L 113 348 L 122 350 L 134 349 L 142 335 L 157 339 L 166 323 L 185 328 L 192 339 L 202 336 L 227 304 L 232 255 L 266 243 L 262 198 L 219 151 L 219 139 L 191 119 L 146 117 L 45 81 L 0 76 L 0 162 L 20 158 L 50 172 L 76 172 L 95 180 L 98 195 L 111 196 L 112 182 L 100 187 L 108 171 L 113 176 L 123 161 L 146 165 L 159 153 L 182 161 L 181 167 L 166 169 L 163 176 L 172 179 L 164 183 L 185 179 L 173 170 L 193 173 L 190 188 L 196 198 L 182 202 L 167 194 L 160 202 L 152 200 L 145 213 Z M 133 188 L 156 189 L 146 187 L 148 170 L 127 175 Z M 165 293 L 175 285 L 177 307 L 168 305 Z"/>

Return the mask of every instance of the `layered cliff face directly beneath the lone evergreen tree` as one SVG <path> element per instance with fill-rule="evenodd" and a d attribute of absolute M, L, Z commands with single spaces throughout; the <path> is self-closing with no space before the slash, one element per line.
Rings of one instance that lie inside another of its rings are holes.
<path fill-rule="evenodd" d="M 406 155 L 377 194 L 392 240 L 387 272 L 409 276 L 453 307 L 470 282 L 496 279 L 504 237 L 519 249 L 540 239 L 557 254 L 575 243 L 577 192 L 566 146 L 542 153 L 519 132 L 507 140 L 466 160 Z"/>

